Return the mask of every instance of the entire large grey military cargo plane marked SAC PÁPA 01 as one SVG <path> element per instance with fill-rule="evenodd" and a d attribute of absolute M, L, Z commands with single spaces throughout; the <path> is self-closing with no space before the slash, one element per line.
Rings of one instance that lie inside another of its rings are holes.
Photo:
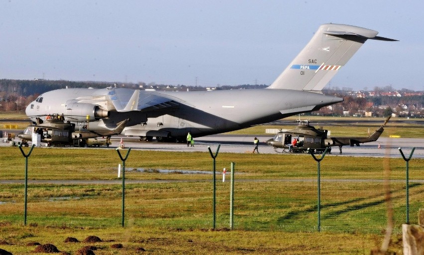
<path fill-rule="evenodd" d="M 308 45 L 265 89 L 146 91 L 59 89 L 41 94 L 26 115 L 63 114 L 75 130 L 113 130 L 142 140 L 185 140 L 268 123 L 343 101 L 321 93 L 327 82 L 368 39 L 397 41 L 378 32 L 342 24 L 323 24 Z M 88 125 L 89 124 L 89 125 Z"/>

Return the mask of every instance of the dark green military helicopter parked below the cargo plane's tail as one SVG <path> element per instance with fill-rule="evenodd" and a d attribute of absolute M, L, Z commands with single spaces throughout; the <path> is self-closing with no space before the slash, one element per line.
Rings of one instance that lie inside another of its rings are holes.
<path fill-rule="evenodd" d="M 332 146 L 338 146 L 341 154 L 341 146 L 359 146 L 360 143 L 373 142 L 383 133 L 384 126 L 390 120 L 388 117 L 384 124 L 367 137 L 327 137 L 328 130 L 315 128 L 309 125 L 309 121 L 301 122 L 297 128 L 284 132 L 278 132 L 274 138 L 266 143 L 277 148 L 283 148 L 283 152 L 309 153 L 313 150 L 315 153 L 321 153 L 326 148 L 331 152 Z M 277 151 L 278 152 L 278 151 Z"/>

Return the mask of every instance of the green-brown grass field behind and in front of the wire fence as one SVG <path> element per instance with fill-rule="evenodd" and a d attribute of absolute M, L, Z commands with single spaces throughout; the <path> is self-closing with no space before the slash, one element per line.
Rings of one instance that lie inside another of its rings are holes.
<path fill-rule="evenodd" d="M 27 152 L 29 149 L 24 148 Z M 1 147 L 1 180 L 23 180 L 17 147 Z M 96 244 L 96 254 L 369 254 L 382 242 L 387 205 L 383 180 L 391 180 L 394 234 L 400 253 L 405 222 L 405 162 L 398 159 L 337 157 L 321 162 L 321 228 L 317 232 L 317 164 L 310 155 L 219 153 L 216 169 L 216 231 L 212 231 L 212 158 L 209 152 L 131 150 L 126 179 L 125 228 L 121 185 L 60 180 L 117 180 L 114 149 L 34 148 L 28 158 L 28 226 L 23 226 L 23 184 L 0 185 L 0 248 L 27 254 L 29 242 L 53 243 L 75 253 L 87 244 L 65 244 L 68 236 L 115 240 Z M 234 230 L 229 228 L 229 175 L 235 162 Z M 293 162 L 297 162 L 293 165 Z M 422 159 L 410 161 L 410 178 L 423 180 Z M 390 169 L 390 174 L 385 170 Z M 161 172 L 160 170 L 169 170 Z M 204 174 L 185 174 L 201 171 Z M 159 182 L 155 182 L 159 181 Z M 424 207 L 423 182 L 410 183 L 411 222 Z M 330 239 L 331 242 L 326 240 Z"/>

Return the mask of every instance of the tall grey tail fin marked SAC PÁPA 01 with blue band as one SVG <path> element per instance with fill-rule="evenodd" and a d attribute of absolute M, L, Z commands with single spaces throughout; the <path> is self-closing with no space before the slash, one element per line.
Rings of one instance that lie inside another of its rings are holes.
<path fill-rule="evenodd" d="M 377 34 L 357 26 L 323 24 L 268 88 L 319 92 L 366 40 L 397 41 Z"/>

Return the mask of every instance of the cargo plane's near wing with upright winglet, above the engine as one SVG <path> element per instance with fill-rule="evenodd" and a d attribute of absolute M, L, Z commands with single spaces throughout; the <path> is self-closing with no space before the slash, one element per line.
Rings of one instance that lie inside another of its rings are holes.
<path fill-rule="evenodd" d="M 170 98 L 144 90 L 118 88 L 110 90 L 108 94 L 118 112 L 152 111 L 179 106 Z"/>

